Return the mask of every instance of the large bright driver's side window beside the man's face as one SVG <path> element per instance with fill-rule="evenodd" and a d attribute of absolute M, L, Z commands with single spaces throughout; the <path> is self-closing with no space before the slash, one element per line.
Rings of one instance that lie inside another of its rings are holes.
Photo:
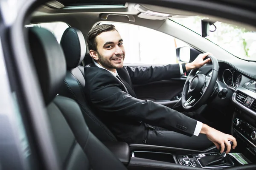
<path fill-rule="evenodd" d="M 125 64 L 173 64 L 178 63 L 176 48 L 189 46 L 168 34 L 142 26 L 125 23 L 113 24 L 124 40 Z"/>

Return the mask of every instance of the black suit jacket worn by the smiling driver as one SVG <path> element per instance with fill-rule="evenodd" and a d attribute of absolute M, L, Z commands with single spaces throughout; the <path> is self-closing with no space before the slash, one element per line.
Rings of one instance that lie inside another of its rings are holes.
<path fill-rule="evenodd" d="M 87 100 L 117 139 L 143 143 L 148 129 L 152 128 L 150 125 L 193 135 L 196 120 L 151 100 L 137 99 L 133 91 L 133 84 L 180 77 L 178 64 L 154 68 L 123 67 L 117 69 L 117 73 L 124 83 L 95 64 L 84 68 Z"/>

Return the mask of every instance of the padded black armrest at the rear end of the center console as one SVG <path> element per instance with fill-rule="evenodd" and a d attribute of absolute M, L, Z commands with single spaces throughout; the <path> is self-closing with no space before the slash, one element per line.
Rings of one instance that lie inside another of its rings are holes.
<path fill-rule="evenodd" d="M 118 158 L 123 164 L 128 164 L 131 158 L 130 147 L 125 142 L 103 142 L 106 147 Z"/>

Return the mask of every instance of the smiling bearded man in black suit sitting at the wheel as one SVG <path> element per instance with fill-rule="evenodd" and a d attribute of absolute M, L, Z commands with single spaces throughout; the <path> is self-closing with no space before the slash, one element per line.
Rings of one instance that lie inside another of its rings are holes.
<path fill-rule="evenodd" d="M 98 25 L 87 36 L 92 65 L 84 68 L 85 94 L 96 115 L 117 139 L 128 143 L 154 144 L 189 149 L 206 149 L 213 142 L 221 152 L 236 147 L 236 139 L 175 110 L 150 100 L 140 100 L 132 84 L 143 84 L 180 77 L 200 68 L 209 53 L 200 54 L 188 64 L 132 69 L 123 67 L 123 40 L 113 25 Z M 201 134 L 199 134 L 201 133 Z M 208 140 L 208 139 L 209 140 Z M 211 141 L 211 142 L 210 142 Z"/>

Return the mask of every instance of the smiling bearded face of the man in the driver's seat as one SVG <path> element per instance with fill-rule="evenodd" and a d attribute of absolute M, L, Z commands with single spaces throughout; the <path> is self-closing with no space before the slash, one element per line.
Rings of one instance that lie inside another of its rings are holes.
<path fill-rule="evenodd" d="M 100 65 L 109 70 L 123 67 L 125 48 L 119 32 L 103 32 L 96 37 L 96 42 Z"/>

